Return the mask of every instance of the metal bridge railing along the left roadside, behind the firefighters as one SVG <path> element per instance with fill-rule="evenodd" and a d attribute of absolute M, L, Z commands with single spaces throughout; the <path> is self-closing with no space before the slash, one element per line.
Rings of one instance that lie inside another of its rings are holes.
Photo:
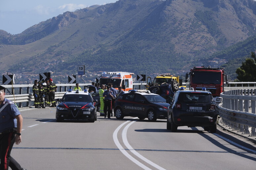
<path fill-rule="evenodd" d="M 79 83 L 79 86 L 84 89 L 88 89 L 85 86 L 90 85 L 91 83 Z M 57 85 L 57 92 L 55 92 L 55 99 L 62 98 L 63 95 L 69 90 L 74 89 L 75 84 L 56 84 Z M 136 89 L 145 89 L 146 83 L 133 83 L 133 88 Z M 16 104 L 19 103 L 18 107 L 29 106 L 31 101 L 34 101 L 32 87 L 33 84 L 15 84 L 15 85 L 2 85 L 6 89 L 6 96 L 5 98 L 15 102 Z M 16 89 L 19 89 L 19 94 L 16 93 Z M 22 92 L 26 89 L 26 94 L 22 94 Z M 9 94 L 9 95 L 8 95 Z M 25 103 L 24 103 L 25 102 Z"/>

